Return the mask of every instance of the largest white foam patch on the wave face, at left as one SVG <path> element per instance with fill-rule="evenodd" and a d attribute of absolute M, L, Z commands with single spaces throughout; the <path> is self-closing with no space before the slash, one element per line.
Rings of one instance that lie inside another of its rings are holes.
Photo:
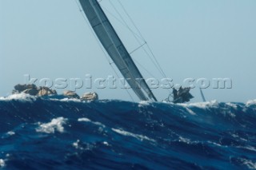
<path fill-rule="evenodd" d="M 63 125 L 66 124 L 67 119 L 63 117 L 58 117 L 57 119 L 53 119 L 50 123 L 40 125 L 36 131 L 37 132 L 46 132 L 46 133 L 54 133 L 57 132 L 64 132 Z"/>

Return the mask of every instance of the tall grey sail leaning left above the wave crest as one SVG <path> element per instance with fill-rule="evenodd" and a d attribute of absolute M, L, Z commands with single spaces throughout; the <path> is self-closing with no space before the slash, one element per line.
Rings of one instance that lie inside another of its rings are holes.
<path fill-rule="evenodd" d="M 114 64 L 142 101 L 157 101 L 97 0 L 79 0 L 90 25 Z"/>

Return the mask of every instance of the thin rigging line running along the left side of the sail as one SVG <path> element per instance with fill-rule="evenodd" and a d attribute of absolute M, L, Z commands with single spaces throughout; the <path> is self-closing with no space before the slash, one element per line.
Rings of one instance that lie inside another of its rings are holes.
<path fill-rule="evenodd" d="M 96 41 L 98 42 L 98 45 L 99 45 L 100 49 L 102 49 L 102 52 L 104 53 L 104 56 L 106 57 L 106 60 L 110 63 L 110 66 L 111 66 L 111 68 L 114 70 L 114 73 L 116 74 L 116 76 L 118 77 L 118 79 L 121 80 L 120 77 L 118 76 L 117 71 L 114 69 L 114 66 L 111 64 L 110 57 L 108 57 L 108 55 L 107 55 L 106 52 L 104 51 L 104 49 L 103 49 L 101 43 L 99 42 L 98 38 L 97 38 L 96 35 L 94 34 L 94 30 L 91 28 L 90 23 L 87 21 L 85 14 L 83 14 L 83 10 L 82 10 L 80 4 L 78 3 L 78 0 L 74 0 L 74 1 L 75 1 L 76 4 L 78 5 L 78 9 L 79 9 L 79 11 L 80 11 L 81 14 L 82 14 L 82 18 L 84 18 L 84 20 L 85 20 L 86 23 L 87 23 L 87 26 L 89 26 L 89 28 L 90 28 L 92 34 L 94 35 L 94 38 L 95 38 Z M 122 82 L 122 84 L 125 86 L 125 83 Z M 125 88 L 125 89 L 126 89 L 126 88 Z M 132 101 L 134 101 L 134 97 L 132 97 L 132 95 L 130 94 L 130 92 L 128 91 L 128 89 L 126 89 L 126 93 L 128 93 L 128 95 L 130 96 L 130 99 L 131 99 Z M 135 102 L 135 101 L 134 101 L 134 102 Z"/>

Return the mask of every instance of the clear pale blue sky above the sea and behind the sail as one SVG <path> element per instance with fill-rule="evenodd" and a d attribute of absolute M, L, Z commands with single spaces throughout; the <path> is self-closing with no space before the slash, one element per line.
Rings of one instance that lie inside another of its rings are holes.
<path fill-rule="evenodd" d="M 120 7 L 116 0 L 111 2 Z M 229 77 L 232 89 L 205 89 L 206 99 L 256 98 L 256 1 L 122 0 L 122 4 L 174 83 L 188 77 Z M 115 14 L 109 0 L 102 0 L 102 6 Z M 111 16 L 110 21 L 129 51 L 138 46 L 119 22 Z M 133 57 L 160 78 L 140 51 Z M 51 79 L 115 75 L 74 0 L 0 0 L 0 59 L 0 96 L 23 83 L 24 74 Z M 124 89 L 93 91 L 100 98 L 130 100 Z M 193 101 L 201 101 L 198 89 L 191 92 Z M 154 93 L 159 100 L 167 96 L 165 89 Z"/>

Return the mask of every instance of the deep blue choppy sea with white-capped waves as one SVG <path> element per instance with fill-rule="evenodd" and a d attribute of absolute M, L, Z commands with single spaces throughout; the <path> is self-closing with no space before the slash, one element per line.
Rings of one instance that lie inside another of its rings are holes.
<path fill-rule="evenodd" d="M 0 169 L 256 169 L 256 101 L 1 97 Z"/>

